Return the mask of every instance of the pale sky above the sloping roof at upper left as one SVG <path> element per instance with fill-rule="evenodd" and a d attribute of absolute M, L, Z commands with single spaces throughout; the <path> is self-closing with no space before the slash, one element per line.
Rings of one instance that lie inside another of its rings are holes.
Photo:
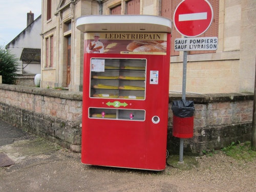
<path fill-rule="evenodd" d="M 41 14 L 41 0 L 0 1 L 0 46 L 6 46 L 27 27 L 27 13 Z"/>

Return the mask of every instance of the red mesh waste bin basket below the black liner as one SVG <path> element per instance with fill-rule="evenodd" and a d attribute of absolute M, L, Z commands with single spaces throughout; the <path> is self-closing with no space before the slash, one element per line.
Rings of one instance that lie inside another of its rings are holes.
<path fill-rule="evenodd" d="M 194 133 L 194 116 L 180 118 L 173 117 L 173 136 L 179 138 L 191 138 Z"/>

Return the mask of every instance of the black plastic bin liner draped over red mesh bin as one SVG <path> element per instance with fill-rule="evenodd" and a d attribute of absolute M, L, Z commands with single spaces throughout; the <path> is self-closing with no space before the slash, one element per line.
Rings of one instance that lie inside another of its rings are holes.
<path fill-rule="evenodd" d="M 193 117 L 195 112 L 194 101 L 175 100 L 172 104 L 172 110 L 177 117 Z"/>

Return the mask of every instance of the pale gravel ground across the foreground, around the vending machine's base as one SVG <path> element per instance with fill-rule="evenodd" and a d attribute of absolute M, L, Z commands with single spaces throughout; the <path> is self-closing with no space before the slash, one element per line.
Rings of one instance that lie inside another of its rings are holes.
<path fill-rule="evenodd" d="M 256 191 L 256 161 L 218 152 L 197 158 L 190 170 L 162 172 L 80 163 L 80 154 L 59 150 L 0 169 L 0 191 Z"/>

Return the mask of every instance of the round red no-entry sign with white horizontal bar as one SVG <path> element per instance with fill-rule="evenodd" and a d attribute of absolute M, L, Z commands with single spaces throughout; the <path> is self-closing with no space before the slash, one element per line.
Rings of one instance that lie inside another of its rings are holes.
<path fill-rule="evenodd" d="M 186 37 L 203 34 L 212 22 L 214 14 L 206 0 L 184 0 L 174 12 L 174 26 Z"/>

